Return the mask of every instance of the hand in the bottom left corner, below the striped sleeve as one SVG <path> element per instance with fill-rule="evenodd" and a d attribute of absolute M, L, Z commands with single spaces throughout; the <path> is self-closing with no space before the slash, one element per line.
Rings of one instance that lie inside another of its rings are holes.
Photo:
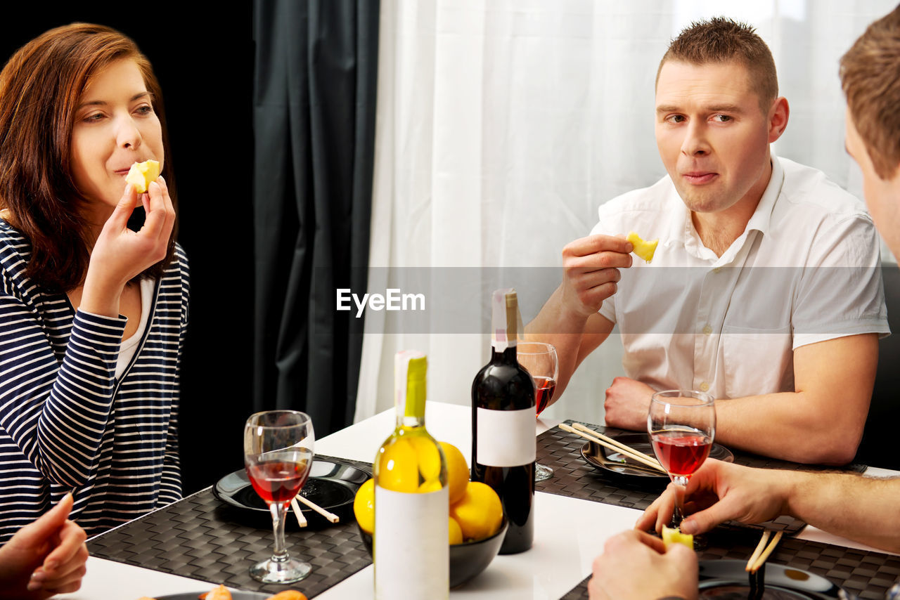
<path fill-rule="evenodd" d="M 72 503 L 67 494 L 0 547 L 0 598 L 43 599 L 81 587 L 86 535 L 67 519 Z"/>

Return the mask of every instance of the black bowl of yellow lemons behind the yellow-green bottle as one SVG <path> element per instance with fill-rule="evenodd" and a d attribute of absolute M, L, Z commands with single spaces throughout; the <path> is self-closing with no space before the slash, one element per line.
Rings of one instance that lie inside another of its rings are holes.
<path fill-rule="evenodd" d="M 469 481 L 463 453 L 441 442 L 447 462 L 450 511 L 447 519 L 450 543 L 450 587 L 460 587 L 488 568 L 497 556 L 509 523 L 500 497 L 484 483 Z M 354 513 L 365 549 L 372 555 L 374 530 L 374 480 L 356 494 Z"/>

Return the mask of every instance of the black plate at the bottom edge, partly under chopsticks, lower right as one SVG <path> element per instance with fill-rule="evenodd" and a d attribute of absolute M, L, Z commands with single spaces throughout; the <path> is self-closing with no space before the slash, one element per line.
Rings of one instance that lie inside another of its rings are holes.
<path fill-rule="evenodd" d="M 749 574 L 743 570 L 746 560 L 701 560 L 700 561 L 700 598 L 716 598 L 731 600 L 750 597 Z M 765 564 L 763 581 L 764 591 L 760 598 L 852 598 L 842 588 L 835 586 L 828 579 L 784 565 L 771 562 Z"/>

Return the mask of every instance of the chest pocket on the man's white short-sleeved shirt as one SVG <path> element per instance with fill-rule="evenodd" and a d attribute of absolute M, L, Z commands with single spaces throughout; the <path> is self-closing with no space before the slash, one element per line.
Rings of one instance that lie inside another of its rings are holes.
<path fill-rule="evenodd" d="M 725 326 L 722 328 L 722 360 L 726 398 L 794 391 L 790 327 Z"/>

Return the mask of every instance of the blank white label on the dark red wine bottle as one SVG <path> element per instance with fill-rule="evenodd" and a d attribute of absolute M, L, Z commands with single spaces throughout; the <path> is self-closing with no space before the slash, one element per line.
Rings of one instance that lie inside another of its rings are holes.
<path fill-rule="evenodd" d="M 535 461 L 535 407 L 491 410 L 479 407 L 478 454 L 473 460 L 489 467 L 518 467 Z"/>

